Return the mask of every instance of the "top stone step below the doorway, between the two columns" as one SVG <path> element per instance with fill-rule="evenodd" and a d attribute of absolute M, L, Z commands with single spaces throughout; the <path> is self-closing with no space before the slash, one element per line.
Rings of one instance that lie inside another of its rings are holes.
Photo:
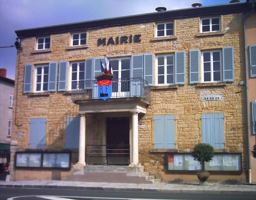
<path fill-rule="evenodd" d="M 105 173 L 126 173 L 126 166 L 119 165 L 86 165 L 85 172 L 105 172 Z"/>

